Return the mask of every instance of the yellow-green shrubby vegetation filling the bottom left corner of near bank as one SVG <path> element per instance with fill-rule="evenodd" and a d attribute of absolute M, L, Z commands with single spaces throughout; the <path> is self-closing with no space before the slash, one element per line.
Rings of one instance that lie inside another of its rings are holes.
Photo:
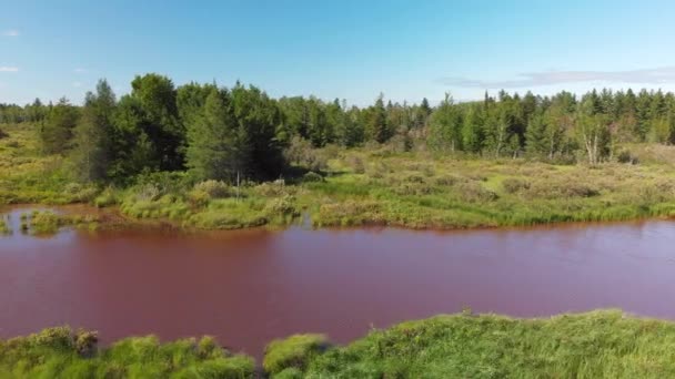
<path fill-rule="evenodd" d="M 99 350 L 95 332 L 69 328 L 0 341 L 3 378 L 253 378 L 254 361 L 210 337 L 160 344 L 128 338 Z"/>

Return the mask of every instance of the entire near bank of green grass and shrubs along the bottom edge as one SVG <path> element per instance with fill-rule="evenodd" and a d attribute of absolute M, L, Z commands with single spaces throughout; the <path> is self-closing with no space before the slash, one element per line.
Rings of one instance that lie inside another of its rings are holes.
<path fill-rule="evenodd" d="M 211 338 L 129 338 L 46 329 L 0 341 L 0 376 L 49 378 L 667 378 L 675 324 L 602 310 L 545 319 L 470 313 L 373 330 L 347 346 L 299 335 L 268 346 L 262 368 Z"/>

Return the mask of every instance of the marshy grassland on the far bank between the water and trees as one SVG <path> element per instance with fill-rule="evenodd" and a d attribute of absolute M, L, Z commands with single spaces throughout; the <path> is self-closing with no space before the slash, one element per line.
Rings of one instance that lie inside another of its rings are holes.
<path fill-rule="evenodd" d="M 27 127 L 3 127 L 0 204 L 84 203 L 118 208 L 129 222 L 199 229 L 284 226 L 303 213 L 316 227 L 411 228 L 675 216 L 675 147 L 662 145 L 631 145 L 629 164 L 596 166 L 326 147 L 304 152 L 275 182 L 236 187 L 179 172 L 102 187 L 73 182 L 69 163 L 40 155 Z"/>

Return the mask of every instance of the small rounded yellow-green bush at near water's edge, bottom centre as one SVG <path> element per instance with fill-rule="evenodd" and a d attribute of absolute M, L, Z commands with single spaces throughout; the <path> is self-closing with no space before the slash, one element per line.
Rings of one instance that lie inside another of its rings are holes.
<path fill-rule="evenodd" d="M 265 348 L 263 368 L 268 373 L 279 373 L 288 368 L 304 370 L 309 361 L 328 348 L 324 335 L 295 335 L 273 340 Z"/>

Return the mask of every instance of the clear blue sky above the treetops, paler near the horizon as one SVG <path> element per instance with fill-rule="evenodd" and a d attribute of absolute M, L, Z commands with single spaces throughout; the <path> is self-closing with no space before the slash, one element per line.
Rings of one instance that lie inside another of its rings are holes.
<path fill-rule="evenodd" d="M 80 103 L 99 79 L 236 80 L 370 104 L 485 91 L 675 91 L 673 1 L 0 0 L 0 103 Z"/>

